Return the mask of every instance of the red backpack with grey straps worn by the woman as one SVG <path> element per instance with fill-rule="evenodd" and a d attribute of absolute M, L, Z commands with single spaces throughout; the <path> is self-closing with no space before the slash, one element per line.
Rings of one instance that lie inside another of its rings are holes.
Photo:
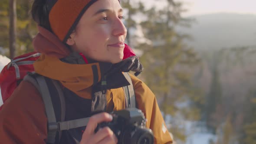
<path fill-rule="evenodd" d="M 59 132 L 59 140 L 61 138 L 61 131 L 69 130 L 72 128 L 84 127 L 87 125 L 89 118 L 81 118 L 75 119 L 71 121 L 65 121 L 65 97 L 62 92 L 62 88 L 57 80 L 51 79 L 52 84 L 54 85 L 54 89 L 58 93 L 60 108 L 61 108 L 61 121 L 56 121 L 56 115 L 53 108 L 53 103 L 51 99 L 51 95 L 48 88 L 48 83 L 46 82 L 46 78 L 42 75 L 38 75 L 34 73 L 33 63 L 38 59 L 40 53 L 30 52 L 21 56 L 18 56 L 11 60 L 0 73 L 0 88 L 1 94 L 4 102 L 10 98 L 15 88 L 20 84 L 22 80 L 28 81 L 32 83 L 36 89 L 39 91 L 43 98 L 43 103 L 45 105 L 46 116 L 48 119 L 48 135 L 47 135 L 47 143 L 54 144 L 56 141 L 57 131 Z M 129 108 L 136 107 L 135 101 L 135 93 L 133 89 L 133 85 L 131 82 L 131 77 L 128 72 L 124 72 L 124 75 L 128 82 L 131 85 L 123 87 L 125 90 L 125 97 L 128 102 Z M 1 110 L 2 106 L 0 107 Z M 76 141 L 76 140 L 75 140 Z M 79 144 L 79 141 L 76 141 Z"/>

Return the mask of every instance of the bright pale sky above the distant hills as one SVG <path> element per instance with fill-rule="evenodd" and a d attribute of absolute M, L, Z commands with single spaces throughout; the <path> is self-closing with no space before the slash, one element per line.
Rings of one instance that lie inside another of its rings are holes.
<path fill-rule="evenodd" d="M 131 0 L 137 1 L 137 0 Z M 152 5 L 161 7 L 165 0 L 141 0 L 146 7 Z M 184 2 L 189 11 L 184 16 L 201 15 L 208 13 L 251 13 L 256 14 L 256 0 L 176 0 Z"/>

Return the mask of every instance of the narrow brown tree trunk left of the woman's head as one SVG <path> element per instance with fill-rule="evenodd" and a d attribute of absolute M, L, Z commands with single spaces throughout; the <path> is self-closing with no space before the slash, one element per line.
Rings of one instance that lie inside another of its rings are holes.
<path fill-rule="evenodd" d="M 16 48 L 16 0 L 9 1 L 9 8 L 10 8 L 9 48 L 10 48 L 10 59 L 13 59 L 15 56 L 15 48 Z"/>

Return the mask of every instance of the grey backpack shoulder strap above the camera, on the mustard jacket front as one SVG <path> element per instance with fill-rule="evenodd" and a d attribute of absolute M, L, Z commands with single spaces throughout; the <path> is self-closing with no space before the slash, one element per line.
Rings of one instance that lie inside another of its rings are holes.
<path fill-rule="evenodd" d="M 134 93 L 133 85 L 132 85 L 132 82 L 131 82 L 131 77 L 130 77 L 128 72 L 124 72 L 123 74 L 125 75 L 125 78 L 130 83 L 130 85 L 124 87 L 125 88 L 125 95 L 126 95 L 126 98 L 127 98 L 127 101 L 128 101 L 128 107 L 129 108 L 136 108 L 135 93 Z"/>

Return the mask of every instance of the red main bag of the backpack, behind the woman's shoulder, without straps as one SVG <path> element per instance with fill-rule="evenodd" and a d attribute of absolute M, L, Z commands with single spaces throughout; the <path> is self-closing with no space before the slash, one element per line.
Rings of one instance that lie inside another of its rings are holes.
<path fill-rule="evenodd" d="M 33 72 L 33 63 L 40 53 L 30 52 L 14 58 L 0 73 L 0 88 L 3 103 L 10 98 L 14 89 L 20 84 L 28 72 Z M 0 107 L 0 109 L 2 106 Z"/>

